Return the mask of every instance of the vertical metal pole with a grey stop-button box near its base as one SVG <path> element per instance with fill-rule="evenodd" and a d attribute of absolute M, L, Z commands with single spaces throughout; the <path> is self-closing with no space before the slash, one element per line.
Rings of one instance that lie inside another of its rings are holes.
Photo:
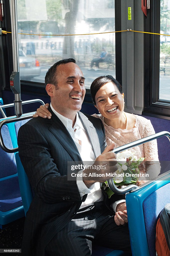
<path fill-rule="evenodd" d="M 17 1 L 10 0 L 11 29 L 12 29 L 12 57 L 14 71 L 10 77 L 10 88 L 14 93 L 14 110 L 17 117 L 22 115 L 22 100 L 19 75 L 19 50 L 18 50 L 18 21 Z"/>

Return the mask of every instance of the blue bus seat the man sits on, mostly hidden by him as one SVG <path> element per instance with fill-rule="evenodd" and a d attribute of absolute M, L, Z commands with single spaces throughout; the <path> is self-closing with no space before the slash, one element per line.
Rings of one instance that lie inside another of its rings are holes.
<path fill-rule="evenodd" d="M 30 207 L 31 201 L 33 199 L 33 195 L 32 195 L 29 179 L 27 177 L 27 174 L 24 171 L 18 152 L 15 154 L 15 157 L 16 157 L 16 164 L 18 169 L 18 179 L 19 179 L 21 197 L 22 197 L 24 212 L 26 216 L 27 211 Z M 104 248 L 96 245 L 93 247 L 93 252 L 91 256 L 106 256 L 106 255 L 107 256 L 126 256 L 127 254 L 125 254 L 121 250 L 113 250 L 113 249 Z"/>

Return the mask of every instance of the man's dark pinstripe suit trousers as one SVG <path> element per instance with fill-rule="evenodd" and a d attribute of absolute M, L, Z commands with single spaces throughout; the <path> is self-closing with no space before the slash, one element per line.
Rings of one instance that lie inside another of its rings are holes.
<path fill-rule="evenodd" d="M 60 239 L 62 237 L 62 239 Z M 81 208 L 46 247 L 48 256 L 90 256 L 92 243 L 130 254 L 128 226 L 117 226 L 103 202 Z"/>

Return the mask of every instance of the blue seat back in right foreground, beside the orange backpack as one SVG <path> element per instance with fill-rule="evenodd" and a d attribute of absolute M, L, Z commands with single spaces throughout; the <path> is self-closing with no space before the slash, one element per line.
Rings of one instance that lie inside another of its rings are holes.
<path fill-rule="evenodd" d="M 169 191 L 170 171 L 126 195 L 133 256 L 156 256 L 156 223 L 161 210 L 170 202 Z"/>

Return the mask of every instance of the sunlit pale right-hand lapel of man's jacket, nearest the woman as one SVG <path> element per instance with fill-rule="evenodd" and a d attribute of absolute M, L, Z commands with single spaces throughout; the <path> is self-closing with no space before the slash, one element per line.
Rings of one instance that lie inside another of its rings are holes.
<path fill-rule="evenodd" d="M 85 116 L 83 113 L 78 112 L 79 118 L 85 128 L 85 131 L 87 133 L 87 136 L 89 138 L 89 141 L 91 143 L 91 146 L 93 148 L 93 152 L 95 155 L 95 158 L 98 157 L 101 152 L 100 152 L 100 142 L 99 142 L 99 137 L 97 135 L 96 129 L 93 126 L 93 124 L 88 120 L 87 116 Z"/>

